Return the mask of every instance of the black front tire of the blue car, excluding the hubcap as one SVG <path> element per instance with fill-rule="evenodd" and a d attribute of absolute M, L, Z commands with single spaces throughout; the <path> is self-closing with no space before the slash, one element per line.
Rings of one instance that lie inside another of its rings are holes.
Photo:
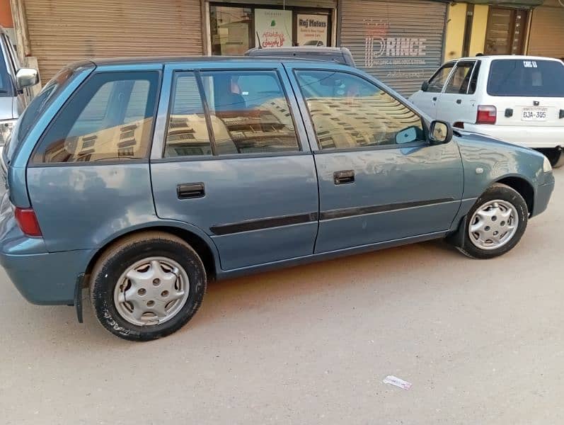
<path fill-rule="evenodd" d="M 505 245 L 500 246 L 497 249 L 481 249 L 480 247 L 473 244 L 470 235 L 468 234 L 468 228 L 471 225 L 471 217 L 473 217 L 474 212 L 478 208 L 485 205 L 492 200 L 504 200 L 507 203 L 511 203 L 515 210 L 517 210 L 517 215 L 519 216 L 519 223 L 517 225 L 517 230 Z M 472 209 L 468 212 L 468 219 L 466 220 L 466 226 L 464 228 L 464 238 L 462 239 L 462 245 L 457 248 L 463 254 L 473 258 L 473 259 L 493 259 L 496 256 L 505 254 L 514 248 L 519 240 L 523 236 L 527 221 L 529 219 L 529 208 L 526 206 L 526 202 L 519 192 L 506 186 L 502 183 L 494 183 L 490 186 L 483 194 L 476 200 Z"/>

